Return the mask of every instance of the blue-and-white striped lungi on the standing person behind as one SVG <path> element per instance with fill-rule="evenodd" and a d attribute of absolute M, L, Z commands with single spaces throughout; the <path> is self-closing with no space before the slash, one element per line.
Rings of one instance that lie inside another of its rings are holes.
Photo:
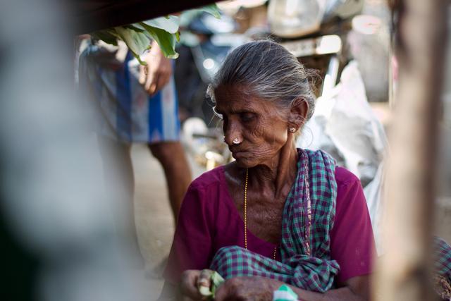
<path fill-rule="evenodd" d="M 101 52 L 102 51 L 102 52 Z M 119 142 L 156 143 L 177 141 L 180 134 L 178 102 L 173 77 L 153 97 L 139 82 L 139 63 L 130 52 L 123 63 L 97 45 L 80 55 L 80 86 L 85 85 L 99 109 L 99 135 Z M 110 57 L 109 57 L 110 56 Z M 106 62 L 105 62 L 106 61 Z"/>

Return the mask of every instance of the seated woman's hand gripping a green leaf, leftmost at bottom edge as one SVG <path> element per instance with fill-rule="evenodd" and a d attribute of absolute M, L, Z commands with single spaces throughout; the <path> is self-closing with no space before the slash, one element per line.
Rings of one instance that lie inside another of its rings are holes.
<path fill-rule="evenodd" d="M 199 292 L 200 286 L 209 288 L 211 286 L 211 274 L 213 271 L 209 269 L 187 270 L 184 271 L 180 278 L 180 293 L 183 300 L 206 300 Z"/>

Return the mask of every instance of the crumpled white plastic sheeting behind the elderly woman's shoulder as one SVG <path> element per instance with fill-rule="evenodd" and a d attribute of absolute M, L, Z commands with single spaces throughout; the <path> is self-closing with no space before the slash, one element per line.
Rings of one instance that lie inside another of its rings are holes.
<path fill-rule="evenodd" d="M 342 71 L 338 85 L 316 101 L 314 115 L 297 140 L 297 147 L 323 149 L 338 165 L 362 182 L 378 254 L 381 254 L 383 157 L 387 148 L 383 125 L 366 99 L 357 62 Z"/>

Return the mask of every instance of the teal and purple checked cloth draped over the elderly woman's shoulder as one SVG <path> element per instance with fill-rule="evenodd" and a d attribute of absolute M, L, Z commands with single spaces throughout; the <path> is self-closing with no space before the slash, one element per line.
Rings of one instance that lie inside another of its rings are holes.
<path fill-rule="evenodd" d="M 297 176 L 282 216 L 281 262 L 230 246 L 216 252 L 210 269 L 226 279 L 263 276 L 321 293 L 333 287 L 340 269 L 330 259 L 329 233 L 337 195 L 335 161 L 322 151 L 297 151 Z"/>

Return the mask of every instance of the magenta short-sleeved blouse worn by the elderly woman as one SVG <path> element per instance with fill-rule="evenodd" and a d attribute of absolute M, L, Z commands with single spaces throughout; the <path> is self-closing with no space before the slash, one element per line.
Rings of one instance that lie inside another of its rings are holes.
<path fill-rule="evenodd" d="M 371 273 L 376 254 L 373 230 L 362 185 L 353 173 L 335 168 L 337 203 L 330 233 L 331 258 L 340 264 L 337 283 Z M 244 247 L 245 225 L 228 192 L 224 167 L 206 172 L 188 188 L 178 217 L 168 266 L 167 281 L 176 284 L 187 269 L 208 269 L 221 247 Z M 272 258 L 276 245 L 247 232 L 247 248 Z M 276 259 L 280 260 L 280 253 Z"/>

